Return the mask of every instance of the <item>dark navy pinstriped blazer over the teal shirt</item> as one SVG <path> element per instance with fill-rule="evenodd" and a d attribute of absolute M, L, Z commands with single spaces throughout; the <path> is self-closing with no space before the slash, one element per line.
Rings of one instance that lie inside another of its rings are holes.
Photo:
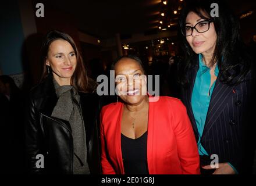
<path fill-rule="evenodd" d="M 198 141 L 198 130 L 191 107 L 191 95 L 195 83 L 198 66 L 189 70 L 190 84 L 182 88 L 182 102 L 187 107 L 187 113 L 193 126 L 195 138 Z M 219 73 L 221 76 L 221 73 Z M 219 163 L 230 162 L 239 173 L 243 173 L 245 160 L 244 152 L 250 146 L 247 130 L 250 130 L 252 110 L 253 75 L 248 72 L 246 80 L 238 85 L 229 86 L 217 77 L 211 101 L 209 103 L 201 144 L 208 152 L 207 160 L 201 158 L 201 163 L 210 164 L 211 155 L 218 155 Z M 254 122 L 255 124 L 255 122 Z M 247 164 L 248 166 L 248 164 Z"/>

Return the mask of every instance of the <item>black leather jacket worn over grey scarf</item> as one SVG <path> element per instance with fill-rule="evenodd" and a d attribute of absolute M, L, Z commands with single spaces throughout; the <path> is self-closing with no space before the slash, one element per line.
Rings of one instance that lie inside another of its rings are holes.
<path fill-rule="evenodd" d="M 79 92 L 79 95 L 86 128 L 88 166 L 91 174 L 101 174 L 98 131 L 101 109 L 99 96 L 82 92 Z M 26 122 L 29 173 L 73 174 L 74 153 L 70 124 L 51 117 L 57 101 L 52 75 L 31 90 Z M 41 155 L 44 157 L 44 168 L 40 168 Z"/>

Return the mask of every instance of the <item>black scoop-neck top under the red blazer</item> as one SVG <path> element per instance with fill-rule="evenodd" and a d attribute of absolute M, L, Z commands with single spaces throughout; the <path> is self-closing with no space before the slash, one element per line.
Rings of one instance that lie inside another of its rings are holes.
<path fill-rule="evenodd" d="M 125 174 L 148 174 L 147 136 L 145 132 L 137 139 L 121 134 L 121 148 Z"/>

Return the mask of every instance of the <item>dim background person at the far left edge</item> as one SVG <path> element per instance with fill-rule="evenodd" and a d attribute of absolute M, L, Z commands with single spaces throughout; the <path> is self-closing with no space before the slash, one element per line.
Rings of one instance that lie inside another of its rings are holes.
<path fill-rule="evenodd" d="M 24 171 L 24 95 L 9 76 L 0 76 L 1 165 L 4 173 Z"/>

